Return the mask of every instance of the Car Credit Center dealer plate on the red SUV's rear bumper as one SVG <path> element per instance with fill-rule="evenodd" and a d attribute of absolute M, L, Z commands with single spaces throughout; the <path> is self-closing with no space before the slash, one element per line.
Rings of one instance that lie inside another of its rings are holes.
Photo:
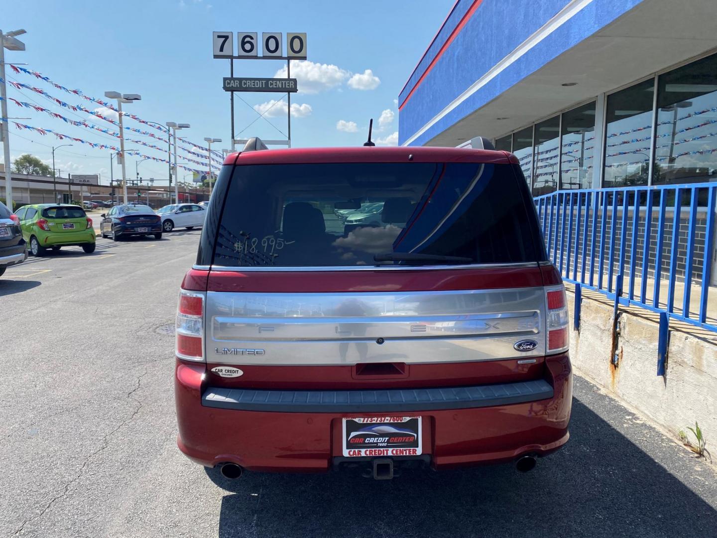
<path fill-rule="evenodd" d="M 345 458 L 420 456 L 421 417 L 361 417 L 343 420 Z"/>

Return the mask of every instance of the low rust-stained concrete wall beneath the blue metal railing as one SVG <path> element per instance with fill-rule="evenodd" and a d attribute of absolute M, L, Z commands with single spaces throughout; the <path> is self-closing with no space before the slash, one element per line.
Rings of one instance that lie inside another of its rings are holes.
<path fill-rule="evenodd" d="M 570 319 L 574 294 L 568 293 Z M 612 306 L 583 296 L 580 331 L 570 325 L 570 358 L 586 374 L 656 423 L 677 435 L 698 421 L 717 454 L 717 335 L 712 341 L 670 331 L 665 377 L 657 377 L 657 329 L 653 321 L 623 312 L 612 367 Z M 690 440 L 694 441 L 691 433 Z"/>

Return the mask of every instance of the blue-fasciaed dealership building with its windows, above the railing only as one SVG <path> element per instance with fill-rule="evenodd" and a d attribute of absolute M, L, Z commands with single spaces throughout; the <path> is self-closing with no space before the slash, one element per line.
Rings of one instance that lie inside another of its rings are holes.
<path fill-rule="evenodd" d="M 459 0 L 399 95 L 399 143 L 475 136 L 533 195 L 717 179 L 717 2 Z"/>

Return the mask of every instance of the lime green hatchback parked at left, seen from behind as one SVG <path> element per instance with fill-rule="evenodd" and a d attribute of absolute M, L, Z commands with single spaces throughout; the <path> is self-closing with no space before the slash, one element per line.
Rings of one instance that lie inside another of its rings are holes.
<path fill-rule="evenodd" d="M 60 247 L 79 246 L 95 252 L 95 229 L 85 209 L 70 204 L 34 204 L 18 209 L 22 237 L 33 256 L 42 256 Z"/>

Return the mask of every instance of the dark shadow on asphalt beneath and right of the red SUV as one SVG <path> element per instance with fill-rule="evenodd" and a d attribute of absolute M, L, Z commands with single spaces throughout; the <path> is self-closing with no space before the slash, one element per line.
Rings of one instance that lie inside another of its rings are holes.
<path fill-rule="evenodd" d="M 513 466 L 348 473 L 244 473 L 227 481 L 219 537 L 713 536 L 717 511 L 574 400 L 571 440 L 531 473 Z M 710 530 L 711 529 L 711 530 Z"/>

